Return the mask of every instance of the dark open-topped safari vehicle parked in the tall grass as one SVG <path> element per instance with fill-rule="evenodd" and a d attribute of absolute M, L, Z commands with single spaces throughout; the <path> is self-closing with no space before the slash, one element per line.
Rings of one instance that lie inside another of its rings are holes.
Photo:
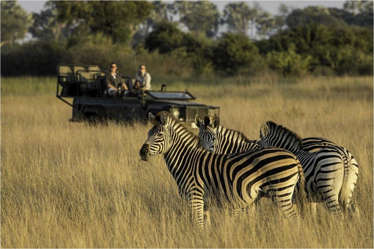
<path fill-rule="evenodd" d="M 84 120 L 147 120 L 148 113 L 169 111 L 176 119 L 194 127 L 194 117 L 219 113 L 219 107 L 204 105 L 192 100 L 188 92 L 133 89 L 134 77 L 122 76 L 132 89 L 124 91 L 118 86 L 119 96 L 114 98 L 106 92 L 105 73 L 97 65 L 59 64 L 57 66 L 56 97 L 73 107 L 72 122 Z M 67 101 L 73 99 L 73 104 Z"/>

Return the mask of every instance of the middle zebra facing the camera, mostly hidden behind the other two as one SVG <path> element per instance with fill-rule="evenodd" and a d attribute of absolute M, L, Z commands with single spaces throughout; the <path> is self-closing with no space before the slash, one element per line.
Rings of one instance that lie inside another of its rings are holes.
<path fill-rule="evenodd" d="M 220 154 L 230 154 L 257 148 L 258 140 L 249 140 L 238 130 L 227 129 L 220 124 L 220 118 L 215 116 L 212 120 L 204 117 L 204 122 L 199 115 L 195 116 L 195 124 L 199 127 L 198 136 L 201 145 L 206 150 Z M 302 138 L 304 150 L 316 152 L 324 147 L 337 146 L 334 142 L 319 137 Z"/>

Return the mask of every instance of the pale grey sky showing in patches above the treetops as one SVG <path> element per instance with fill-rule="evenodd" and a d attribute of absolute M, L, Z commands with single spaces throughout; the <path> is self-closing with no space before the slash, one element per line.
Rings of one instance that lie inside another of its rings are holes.
<path fill-rule="evenodd" d="M 222 11 L 224 9 L 224 6 L 227 3 L 230 2 L 241 2 L 241 1 L 211 1 L 212 3 L 216 4 L 218 6 L 218 10 Z M 253 1 L 245 1 L 247 2 L 250 6 L 252 6 Z M 291 6 L 294 8 L 304 8 L 307 6 L 316 6 L 316 5 L 322 5 L 325 7 L 337 7 L 337 8 L 342 8 L 343 4 L 345 1 L 300 1 L 300 0 L 295 0 L 295 1 L 257 1 L 260 6 L 266 10 L 267 12 L 270 12 L 272 14 L 277 14 L 278 13 L 278 7 L 281 3 L 286 4 L 287 6 Z M 18 1 L 19 5 L 21 5 L 25 10 L 28 12 L 40 12 L 40 10 L 43 9 L 44 4 L 46 1 Z"/>

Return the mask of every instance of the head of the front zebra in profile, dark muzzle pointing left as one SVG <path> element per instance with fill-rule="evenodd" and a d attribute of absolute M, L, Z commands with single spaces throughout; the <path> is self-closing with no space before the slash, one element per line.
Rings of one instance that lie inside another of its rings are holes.
<path fill-rule="evenodd" d="M 148 119 L 153 127 L 148 131 L 148 139 L 140 149 L 139 155 L 143 161 L 148 161 L 150 157 L 164 154 L 171 144 L 170 125 L 168 115 L 165 112 L 157 113 L 156 117 L 148 113 Z"/>

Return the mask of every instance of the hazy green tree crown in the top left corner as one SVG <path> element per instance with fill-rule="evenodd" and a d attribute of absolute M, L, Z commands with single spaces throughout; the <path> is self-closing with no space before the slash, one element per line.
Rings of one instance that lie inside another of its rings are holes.
<path fill-rule="evenodd" d="M 15 40 L 25 37 L 32 23 L 31 15 L 17 1 L 1 1 L 0 8 L 1 46 L 5 43 L 12 45 Z"/>

